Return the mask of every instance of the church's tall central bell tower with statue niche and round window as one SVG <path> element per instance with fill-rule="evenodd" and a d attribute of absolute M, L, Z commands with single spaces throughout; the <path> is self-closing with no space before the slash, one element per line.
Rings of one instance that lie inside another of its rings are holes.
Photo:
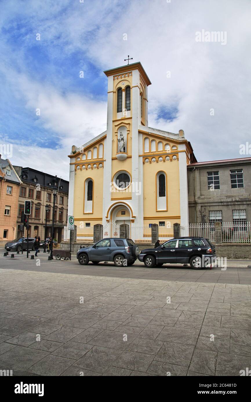
<path fill-rule="evenodd" d="M 109 208 L 118 209 L 119 204 L 128 208 L 131 222 L 143 225 L 143 190 L 139 195 L 135 189 L 142 186 L 139 127 L 148 125 L 147 86 L 151 82 L 140 62 L 106 70 L 104 74 L 108 77 L 108 106 L 103 226 L 114 219 L 107 214 Z"/>

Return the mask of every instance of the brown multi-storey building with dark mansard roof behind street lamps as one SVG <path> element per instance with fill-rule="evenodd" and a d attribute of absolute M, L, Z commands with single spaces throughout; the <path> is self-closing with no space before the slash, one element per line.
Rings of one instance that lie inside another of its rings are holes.
<path fill-rule="evenodd" d="M 25 200 L 31 200 L 31 215 L 29 217 L 29 236 L 40 236 L 41 240 L 44 239 L 45 221 L 46 221 L 46 204 L 49 205 L 47 215 L 47 230 L 46 235 L 50 235 L 52 228 L 52 208 L 53 208 L 53 194 L 52 188 L 49 183 L 52 181 L 51 174 L 40 172 L 39 170 L 31 168 L 22 168 L 15 166 L 19 177 L 22 180 L 20 186 L 20 193 L 18 198 L 17 209 L 17 235 L 22 236 L 21 231 L 21 213 L 24 211 Z M 55 204 L 54 213 L 54 238 L 61 242 L 64 236 L 64 226 L 67 222 L 67 209 L 68 209 L 68 189 L 69 182 L 60 179 L 58 184 L 60 187 Z M 25 230 L 25 236 L 27 230 Z"/>

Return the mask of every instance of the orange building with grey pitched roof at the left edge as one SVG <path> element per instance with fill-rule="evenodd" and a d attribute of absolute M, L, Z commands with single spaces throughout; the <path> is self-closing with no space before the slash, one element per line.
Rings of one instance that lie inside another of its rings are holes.
<path fill-rule="evenodd" d="M 16 237 L 21 180 L 8 159 L 0 155 L 0 245 Z"/>

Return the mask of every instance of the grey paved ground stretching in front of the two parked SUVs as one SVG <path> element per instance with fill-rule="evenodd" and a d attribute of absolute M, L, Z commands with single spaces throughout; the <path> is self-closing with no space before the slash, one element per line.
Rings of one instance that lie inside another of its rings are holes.
<path fill-rule="evenodd" d="M 194 271 L 2 255 L 0 369 L 13 375 L 239 376 L 251 368 L 247 262 Z"/>

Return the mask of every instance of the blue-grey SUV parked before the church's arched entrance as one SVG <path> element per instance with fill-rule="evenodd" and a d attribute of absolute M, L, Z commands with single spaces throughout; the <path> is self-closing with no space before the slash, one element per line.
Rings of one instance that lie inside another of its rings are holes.
<path fill-rule="evenodd" d="M 137 260 L 139 247 L 131 239 L 108 238 L 102 239 L 93 246 L 81 248 L 77 252 L 79 264 L 86 265 L 91 261 L 113 261 L 116 267 L 133 265 Z M 126 260 L 126 261 L 125 261 Z"/>

